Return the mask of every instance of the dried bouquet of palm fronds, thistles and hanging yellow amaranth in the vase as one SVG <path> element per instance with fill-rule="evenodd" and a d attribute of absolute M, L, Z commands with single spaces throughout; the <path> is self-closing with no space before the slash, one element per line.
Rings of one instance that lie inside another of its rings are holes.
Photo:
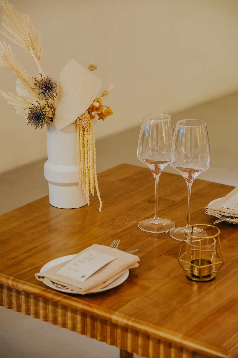
<path fill-rule="evenodd" d="M 7 0 L 0 1 L 3 10 L 1 33 L 25 49 L 37 66 L 37 75 L 30 76 L 16 59 L 10 45 L 0 40 L 0 67 L 14 71 L 17 76 L 16 95 L 0 90 L 16 113 L 25 117 L 27 124 L 37 128 L 53 122 L 57 130 L 75 123 L 77 125 L 77 167 L 79 185 L 86 194 L 88 204 L 90 193 L 96 187 L 100 202 L 96 174 L 95 135 L 91 120 L 104 120 L 113 114 L 112 108 L 102 105 L 102 97 L 108 95 L 113 86 L 108 86 L 99 97 L 101 79 L 95 76 L 97 65 L 88 64 L 85 69 L 74 59 L 67 62 L 57 81 L 45 76 L 40 63 L 42 59 L 42 36 L 31 24 L 28 15 L 20 14 Z M 81 100 L 80 100 L 81 99 Z"/>

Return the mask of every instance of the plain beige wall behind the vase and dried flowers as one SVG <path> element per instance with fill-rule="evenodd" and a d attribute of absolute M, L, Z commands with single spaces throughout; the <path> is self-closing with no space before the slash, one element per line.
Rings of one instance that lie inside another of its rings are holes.
<path fill-rule="evenodd" d="M 40 29 L 47 75 L 56 79 L 73 57 L 85 67 L 96 61 L 102 87 L 115 85 L 104 100 L 114 114 L 97 123 L 96 139 L 140 125 L 145 113 L 172 113 L 238 89 L 237 0 L 10 2 Z M 34 76 L 24 50 L 0 38 Z M 15 80 L 0 69 L 1 89 L 15 92 Z M 2 97 L 0 108 L 0 172 L 44 158 L 45 129 L 27 126 Z"/>

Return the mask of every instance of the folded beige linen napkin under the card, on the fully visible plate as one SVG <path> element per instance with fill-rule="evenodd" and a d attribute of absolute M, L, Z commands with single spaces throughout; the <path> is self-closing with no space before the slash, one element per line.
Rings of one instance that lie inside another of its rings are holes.
<path fill-rule="evenodd" d="M 60 263 L 59 265 L 51 267 L 44 272 L 39 272 L 35 274 L 36 279 L 39 281 L 44 280 L 51 285 L 57 283 L 59 285 L 65 286 L 65 289 L 70 289 L 84 295 L 90 293 L 90 291 L 92 290 L 98 290 L 102 289 L 103 287 L 106 287 L 111 282 L 115 281 L 118 277 L 123 275 L 128 269 L 132 269 L 134 267 L 139 266 L 138 261 L 140 261 L 140 259 L 138 258 L 138 256 L 131 255 L 130 253 L 104 245 L 92 245 L 90 247 L 87 247 L 85 250 L 79 252 L 73 258 L 73 260 L 75 260 L 75 258 L 77 258 L 77 256 L 81 255 L 82 253 L 87 252 L 88 250 L 99 251 L 104 254 L 114 256 L 116 257 L 116 259 L 101 267 L 101 269 L 88 277 L 88 279 L 84 282 L 80 282 L 71 277 L 65 277 L 61 274 L 57 274 L 57 271 L 59 271 L 71 260 Z"/>

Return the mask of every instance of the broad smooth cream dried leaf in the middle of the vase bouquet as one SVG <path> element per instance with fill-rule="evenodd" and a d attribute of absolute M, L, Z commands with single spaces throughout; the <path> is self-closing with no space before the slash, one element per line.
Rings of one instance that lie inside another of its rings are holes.
<path fill-rule="evenodd" d="M 101 88 L 101 79 L 70 59 L 57 79 L 54 124 L 61 130 L 75 122 L 92 104 Z"/>

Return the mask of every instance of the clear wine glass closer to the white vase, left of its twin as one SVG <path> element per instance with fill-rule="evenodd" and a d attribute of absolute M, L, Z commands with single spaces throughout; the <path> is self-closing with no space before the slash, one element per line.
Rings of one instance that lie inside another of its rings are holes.
<path fill-rule="evenodd" d="M 173 140 L 172 117 L 164 113 L 144 116 L 138 141 L 137 156 L 148 165 L 155 177 L 155 217 L 142 220 L 138 226 L 147 232 L 167 232 L 175 224 L 158 217 L 158 181 L 161 171 L 170 163 Z"/>

